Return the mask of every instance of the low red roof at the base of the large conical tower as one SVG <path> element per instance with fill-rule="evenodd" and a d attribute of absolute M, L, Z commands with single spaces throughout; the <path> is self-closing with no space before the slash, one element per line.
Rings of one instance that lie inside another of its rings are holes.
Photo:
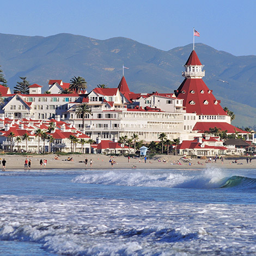
<path fill-rule="evenodd" d="M 194 125 L 193 131 L 205 132 L 209 131 L 210 128 L 214 127 L 220 128 L 221 131 L 227 130 L 227 133 L 235 133 L 235 131 L 239 133 L 248 133 L 231 124 L 224 122 L 197 122 L 196 125 Z"/>

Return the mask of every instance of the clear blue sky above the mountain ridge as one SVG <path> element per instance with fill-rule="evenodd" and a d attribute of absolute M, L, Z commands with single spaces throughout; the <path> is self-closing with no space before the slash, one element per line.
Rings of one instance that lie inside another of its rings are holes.
<path fill-rule="evenodd" d="M 236 56 L 256 55 L 254 0 L 10 0 L 0 33 L 95 39 L 124 36 L 161 50 L 202 42 Z"/>

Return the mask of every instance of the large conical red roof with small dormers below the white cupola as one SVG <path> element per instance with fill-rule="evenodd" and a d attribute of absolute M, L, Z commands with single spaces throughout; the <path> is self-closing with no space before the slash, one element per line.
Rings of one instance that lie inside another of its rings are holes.
<path fill-rule="evenodd" d="M 212 91 L 206 86 L 202 78 L 185 78 L 176 96 L 183 99 L 183 106 L 188 113 L 198 115 L 227 115 L 217 101 Z"/>

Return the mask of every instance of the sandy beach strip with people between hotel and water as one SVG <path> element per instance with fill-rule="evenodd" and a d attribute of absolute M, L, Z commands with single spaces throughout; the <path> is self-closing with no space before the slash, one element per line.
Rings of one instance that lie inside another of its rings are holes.
<path fill-rule="evenodd" d="M 26 158 L 31 159 L 31 169 L 111 169 L 111 163 L 109 162 L 110 157 L 106 155 L 66 155 L 58 156 L 58 160 L 54 159 L 54 154 L 51 155 L 0 155 L 0 169 L 2 169 L 2 160 L 5 159 L 6 170 L 18 170 L 24 169 L 24 164 Z M 68 157 L 72 157 L 74 161 L 68 161 Z M 85 159 L 88 159 L 88 164 L 84 163 Z M 147 162 L 144 162 L 144 159 L 130 159 L 124 156 L 114 156 L 112 157 L 115 164 L 113 164 L 113 169 L 202 169 L 202 168 L 211 168 L 217 167 L 222 169 L 256 169 L 256 160 L 252 160 L 251 163 L 247 163 L 246 159 L 239 160 L 238 163 L 233 163 L 234 160 L 225 160 L 223 163 L 221 160 L 217 162 L 205 163 L 205 160 L 192 159 L 191 165 L 187 162 L 180 160 L 181 156 L 166 156 L 159 155 L 155 156 L 153 159 L 148 159 Z M 40 166 L 40 159 L 44 161 L 47 160 L 46 166 L 42 164 Z M 90 166 L 90 160 L 92 159 L 92 166 Z M 163 160 L 166 160 L 164 162 Z M 176 164 L 180 160 L 181 164 Z M 198 164 L 201 163 L 201 164 Z"/>

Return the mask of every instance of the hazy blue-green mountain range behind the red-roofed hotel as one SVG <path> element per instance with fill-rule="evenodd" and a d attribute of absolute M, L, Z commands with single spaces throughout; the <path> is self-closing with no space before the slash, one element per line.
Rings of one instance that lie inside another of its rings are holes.
<path fill-rule="evenodd" d="M 132 92 L 170 93 L 184 80 L 183 65 L 193 49 L 189 44 L 163 51 L 128 38 L 97 40 L 65 33 L 0 34 L 0 42 L 0 65 L 12 91 L 20 76 L 44 86 L 43 91 L 50 79 L 69 82 L 74 76 L 84 77 L 88 90 L 97 84 L 117 87 L 124 64 Z M 195 50 L 204 65 L 205 83 L 222 107 L 236 114 L 233 125 L 256 127 L 256 56 L 234 56 L 204 44 L 196 44 Z"/>

